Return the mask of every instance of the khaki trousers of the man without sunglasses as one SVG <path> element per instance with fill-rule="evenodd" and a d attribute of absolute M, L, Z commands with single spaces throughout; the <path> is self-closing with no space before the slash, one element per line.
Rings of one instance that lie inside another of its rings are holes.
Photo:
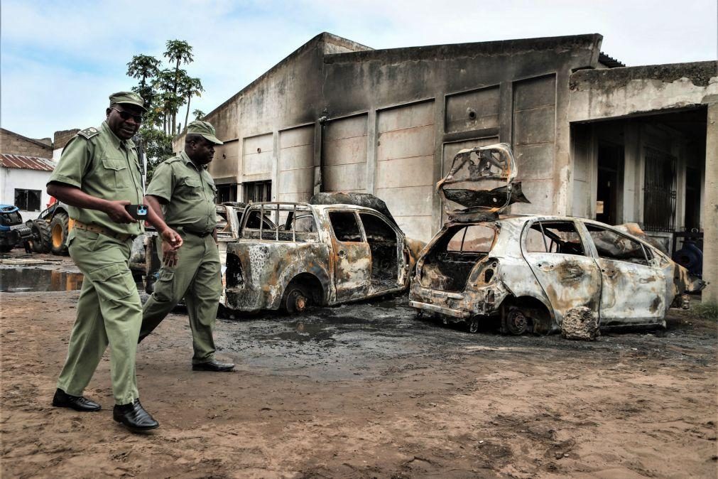
<path fill-rule="evenodd" d="M 192 364 L 212 361 L 215 356 L 213 328 L 222 292 L 220 254 L 212 235 L 200 238 L 192 233 L 182 235 L 182 247 L 177 250 L 177 264 L 162 266 L 159 279 L 142 310 L 139 339 L 143 340 L 159 325 L 177 303 L 185 298 L 192 330 Z M 162 243 L 157 238 L 157 254 L 162 256 Z"/>

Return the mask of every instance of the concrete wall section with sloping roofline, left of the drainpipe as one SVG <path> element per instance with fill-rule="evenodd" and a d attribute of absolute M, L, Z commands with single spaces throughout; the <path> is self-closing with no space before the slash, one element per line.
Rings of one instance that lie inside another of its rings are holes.
<path fill-rule="evenodd" d="M 322 113 L 322 62 L 325 54 L 366 48 L 332 34 L 317 35 L 205 116 L 204 119 L 217 129 L 218 138 L 225 142 L 215 149 L 210 174 L 223 183 L 271 180 L 275 200 L 281 195 L 295 199 L 307 197 L 308 192 L 314 189 L 312 170 L 317 162 L 314 153 L 316 141 L 312 138 L 311 164 L 285 169 L 286 165 L 280 165 L 280 131 L 302 126 L 304 129 L 300 135 L 303 138 L 314 136 L 315 129 L 320 128 L 318 118 Z M 285 147 L 287 141 L 294 141 L 289 139 L 292 136 L 289 132 L 281 136 L 284 136 Z M 174 151 L 179 152 L 183 144 L 184 136 L 175 139 Z M 304 144 L 305 152 L 309 144 Z M 289 155 L 289 150 L 285 154 Z M 278 190 L 278 183 L 286 185 L 291 191 Z"/>

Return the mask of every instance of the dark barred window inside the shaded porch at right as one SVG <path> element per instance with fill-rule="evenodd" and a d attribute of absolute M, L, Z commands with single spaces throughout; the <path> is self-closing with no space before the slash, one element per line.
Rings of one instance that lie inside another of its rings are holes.
<path fill-rule="evenodd" d="M 643 230 L 676 229 L 676 157 L 657 149 L 645 149 Z"/>

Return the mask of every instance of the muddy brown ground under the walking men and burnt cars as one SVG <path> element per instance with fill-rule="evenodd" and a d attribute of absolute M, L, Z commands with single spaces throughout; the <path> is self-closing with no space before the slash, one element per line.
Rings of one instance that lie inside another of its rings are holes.
<path fill-rule="evenodd" d="M 73 271 L 67 262 L 34 268 L 21 276 Z M 218 355 L 237 363 L 233 373 L 190 370 L 191 334 L 178 311 L 139 348 L 142 404 L 161 427 L 138 435 L 112 421 L 107 358 L 86 391 L 102 411 L 50 406 L 77 299 L 0 294 L 2 477 L 718 472 L 716 324 L 682 311 L 671 310 L 666 331 L 592 343 L 470 335 L 417 320 L 406 297 L 218 320 Z"/>

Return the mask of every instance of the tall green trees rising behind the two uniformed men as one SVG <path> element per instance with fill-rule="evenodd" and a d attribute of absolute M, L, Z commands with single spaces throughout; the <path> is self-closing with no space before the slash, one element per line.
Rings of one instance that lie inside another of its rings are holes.
<path fill-rule="evenodd" d="M 134 55 L 127 64 L 127 75 L 139 80 L 132 90 L 144 98 L 148 110 L 139 131 L 147 155 L 148 177 L 157 164 L 172 157 L 172 137 L 187 127 L 192 97 L 201 96 L 205 90 L 199 78 L 181 68 L 194 60 L 189 43 L 167 40 L 162 56 L 169 62 L 167 68 L 150 55 Z M 185 105 L 185 124 L 177 124 L 177 115 Z M 205 115 L 199 110 L 193 114 L 195 118 Z"/>

